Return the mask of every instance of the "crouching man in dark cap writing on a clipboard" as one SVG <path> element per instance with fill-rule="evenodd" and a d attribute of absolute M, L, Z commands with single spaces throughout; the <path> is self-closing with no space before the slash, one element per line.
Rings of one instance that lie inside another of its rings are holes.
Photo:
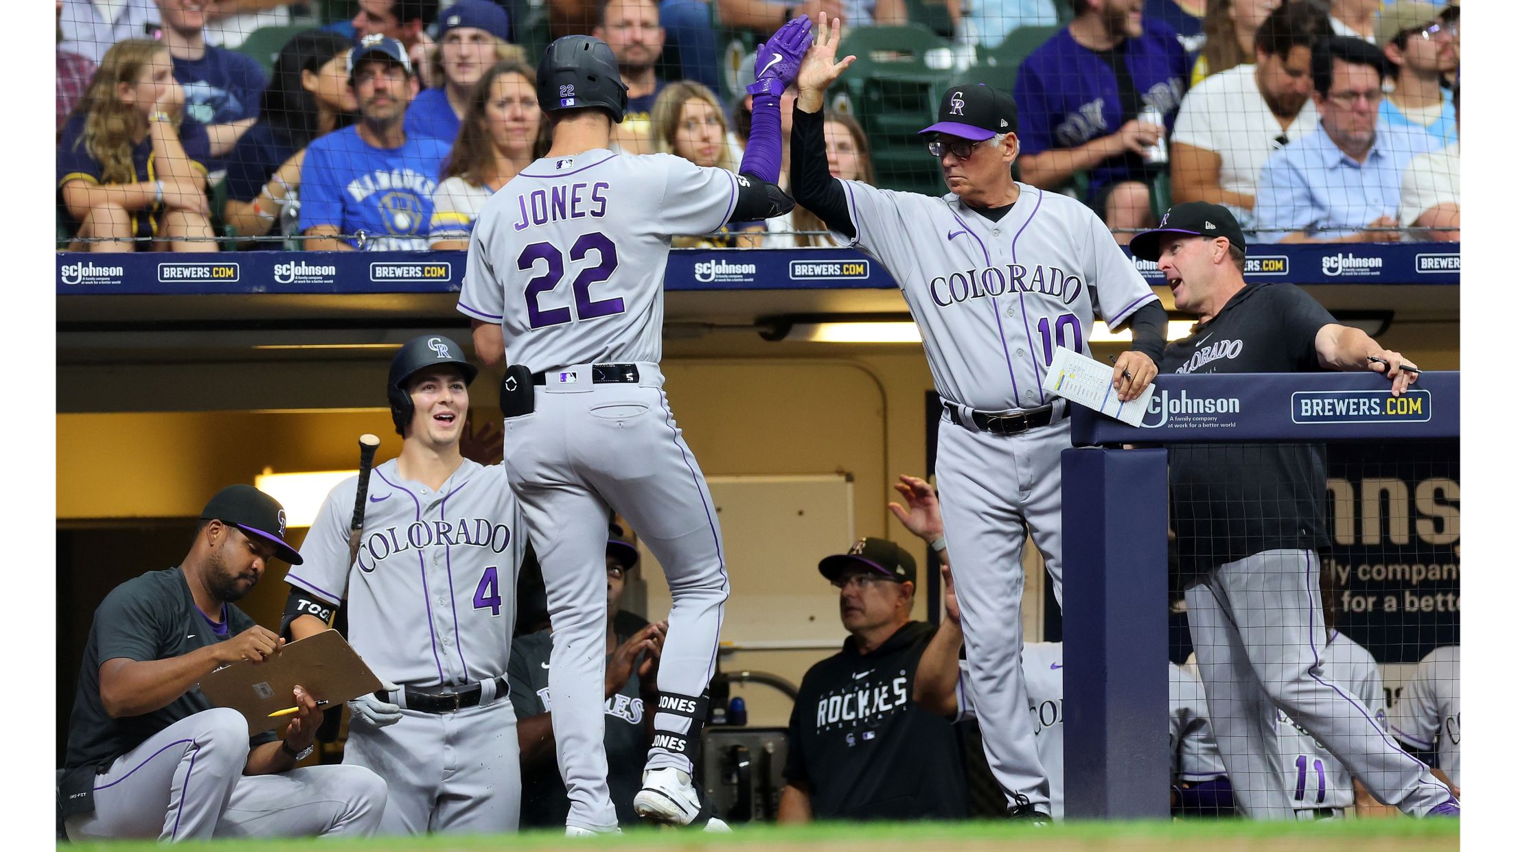
<path fill-rule="evenodd" d="M 277 500 L 232 485 L 205 505 L 177 567 L 123 582 L 96 609 L 58 790 L 70 840 L 367 837 L 379 826 L 377 775 L 294 769 L 321 723 L 300 687 L 282 741 L 274 731 L 249 740 L 241 713 L 200 693 L 212 670 L 283 646 L 233 603 L 274 556 L 300 564 L 283 535 Z"/>

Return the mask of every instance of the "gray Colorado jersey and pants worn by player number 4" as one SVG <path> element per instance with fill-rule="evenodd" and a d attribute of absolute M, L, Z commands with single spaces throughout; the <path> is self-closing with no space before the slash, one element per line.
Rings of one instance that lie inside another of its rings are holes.
<path fill-rule="evenodd" d="M 506 675 L 525 523 L 502 465 L 464 459 L 438 490 L 373 468 L 358 559 L 347 529 L 358 478 L 332 488 L 287 582 L 347 609 L 347 640 L 399 685 L 488 682 Z M 400 722 L 349 726 L 343 763 L 390 785 L 385 834 L 515 831 L 520 756 L 505 690 L 487 684 L 456 714 L 403 709 Z"/>

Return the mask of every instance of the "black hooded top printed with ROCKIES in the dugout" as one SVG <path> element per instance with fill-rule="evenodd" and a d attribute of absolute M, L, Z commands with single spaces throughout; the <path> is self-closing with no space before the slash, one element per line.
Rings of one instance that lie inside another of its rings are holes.
<path fill-rule="evenodd" d="M 952 725 L 911 700 L 935 629 L 910 622 L 873 653 L 843 650 L 800 681 L 787 781 L 811 788 L 819 820 L 966 819 L 969 793 Z"/>

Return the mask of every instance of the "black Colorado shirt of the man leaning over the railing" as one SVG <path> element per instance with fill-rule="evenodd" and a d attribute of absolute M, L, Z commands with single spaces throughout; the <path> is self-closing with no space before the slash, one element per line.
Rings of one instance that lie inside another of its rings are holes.
<path fill-rule="evenodd" d="M 1249 283 L 1163 352 L 1160 373 L 1316 373 L 1336 323 L 1293 283 Z M 1170 517 L 1186 579 L 1275 549 L 1328 543 L 1322 444 L 1170 444 Z"/>

